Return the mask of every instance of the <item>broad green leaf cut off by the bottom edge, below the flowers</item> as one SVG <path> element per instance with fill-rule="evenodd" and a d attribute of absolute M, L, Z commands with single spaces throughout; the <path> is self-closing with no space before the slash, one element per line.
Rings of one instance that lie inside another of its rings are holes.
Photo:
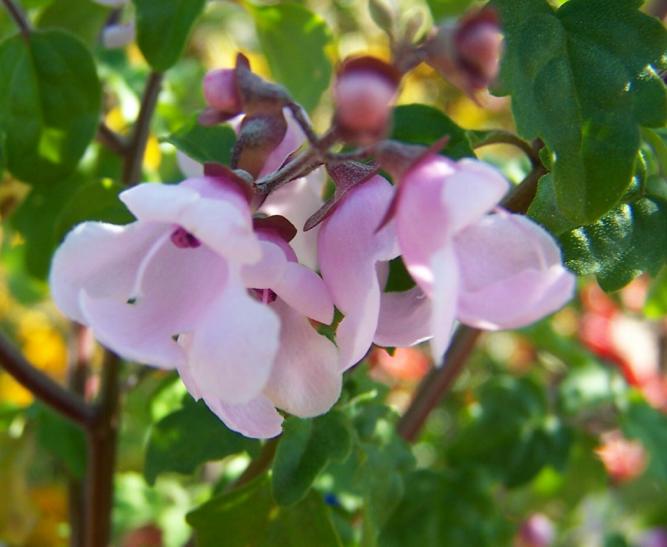
<path fill-rule="evenodd" d="M 339 547 L 340 540 L 321 497 L 314 491 L 301 502 L 273 502 L 266 476 L 216 496 L 187 516 L 197 545 L 218 547 Z M 223 539 L 224 538 L 224 539 Z"/>

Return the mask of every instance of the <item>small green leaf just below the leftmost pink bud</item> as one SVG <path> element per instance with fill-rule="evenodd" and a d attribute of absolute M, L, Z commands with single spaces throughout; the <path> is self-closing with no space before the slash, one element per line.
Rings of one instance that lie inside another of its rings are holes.
<path fill-rule="evenodd" d="M 229 165 L 236 134 L 226 125 L 203 127 L 197 120 L 192 120 L 164 140 L 200 163 L 211 161 Z"/>

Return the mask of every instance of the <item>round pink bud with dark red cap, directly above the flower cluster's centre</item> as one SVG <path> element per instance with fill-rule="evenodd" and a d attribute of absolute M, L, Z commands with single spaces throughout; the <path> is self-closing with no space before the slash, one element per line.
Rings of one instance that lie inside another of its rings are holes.
<path fill-rule="evenodd" d="M 380 137 L 389 122 L 399 78 L 393 67 L 372 57 L 346 62 L 334 89 L 336 121 L 357 141 Z"/>

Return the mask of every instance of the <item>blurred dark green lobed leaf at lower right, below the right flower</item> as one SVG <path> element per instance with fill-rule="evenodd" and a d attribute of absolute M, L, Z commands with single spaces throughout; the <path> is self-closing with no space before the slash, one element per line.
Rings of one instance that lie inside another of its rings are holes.
<path fill-rule="evenodd" d="M 508 487 L 524 484 L 544 466 L 564 465 L 570 434 L 547 413 L 538 385 L 500 377 L 484 385 L 478 405 L 449 449 L 452 462 L 481 464 Z"/>

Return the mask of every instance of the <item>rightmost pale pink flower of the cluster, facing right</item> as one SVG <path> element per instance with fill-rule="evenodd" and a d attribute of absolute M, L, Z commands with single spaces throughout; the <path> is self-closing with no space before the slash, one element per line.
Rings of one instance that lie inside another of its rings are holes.
<path fill-rule="evenodd" d="M 493 210 L 507 181 L 485 164 L 428 156 L 400 181 L 396 231 L 408 271 L 432 302 L 434 359 L 456 320 L 495 330 L 528 325 L 563 306 L 574 276 L 540 226 Z"/>

